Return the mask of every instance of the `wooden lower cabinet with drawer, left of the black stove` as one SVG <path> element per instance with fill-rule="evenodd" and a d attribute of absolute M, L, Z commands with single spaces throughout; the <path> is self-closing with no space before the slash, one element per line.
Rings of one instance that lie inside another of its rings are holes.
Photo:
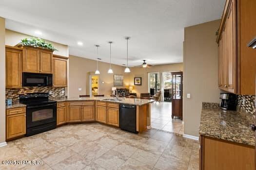
<path fill-rule="evenodd" d="M 6 109 L 6 140 L 26 134 L 26 108 Z"/>

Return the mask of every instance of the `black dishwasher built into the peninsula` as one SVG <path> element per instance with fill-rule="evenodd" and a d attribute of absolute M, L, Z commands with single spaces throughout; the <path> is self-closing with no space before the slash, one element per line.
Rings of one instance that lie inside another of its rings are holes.
<path fill-rule="evenodd" d="M 119 105 L 119 126 L 122 130 L 133 132 L 136 131 L 136 106 L 128 104 Z"/>

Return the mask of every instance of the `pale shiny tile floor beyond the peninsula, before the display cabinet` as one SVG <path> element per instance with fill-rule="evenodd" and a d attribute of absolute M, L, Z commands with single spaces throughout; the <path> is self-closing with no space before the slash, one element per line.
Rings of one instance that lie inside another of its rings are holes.
<path fill-rule="evenodd" d="M 171 102 L 154 102 L 151 104 L 151 127 L 167 132 L 184 134 L 184 122 L 178 118 L 172 119 Z"/>

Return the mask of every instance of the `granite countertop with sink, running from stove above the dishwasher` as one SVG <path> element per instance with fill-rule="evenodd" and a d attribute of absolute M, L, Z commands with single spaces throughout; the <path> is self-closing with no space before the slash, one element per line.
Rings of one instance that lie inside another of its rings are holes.
<path fill-rule="evenodd" d="M 155 100 L 148 100 L 148 99 L 138 99 L 138 98 L 118 98 L 120 101 L 107 101 L 106 99 L 116 99 L 116 97 L 106 96 L 106 97 L 68 97 L 68 98 L 50 98 L 51 100 L 57 102 L 71 102 L 71 101 L 103 101 L 103 102 L 115 102 L 120 104 L 131 104 L 131 105 L 144 105 Z"/>

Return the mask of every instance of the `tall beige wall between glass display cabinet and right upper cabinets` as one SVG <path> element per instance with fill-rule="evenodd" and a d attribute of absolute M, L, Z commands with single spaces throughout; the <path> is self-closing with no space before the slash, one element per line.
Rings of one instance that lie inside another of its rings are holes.
<path fill-rule="evenodd" d="M 198 136 L 202 102 L 219 102 L 218 48 L 220 20 L 185 28 L 183 117 L 184 134 Z M 191 98 L 187 99 L 187 93 Z"/>

